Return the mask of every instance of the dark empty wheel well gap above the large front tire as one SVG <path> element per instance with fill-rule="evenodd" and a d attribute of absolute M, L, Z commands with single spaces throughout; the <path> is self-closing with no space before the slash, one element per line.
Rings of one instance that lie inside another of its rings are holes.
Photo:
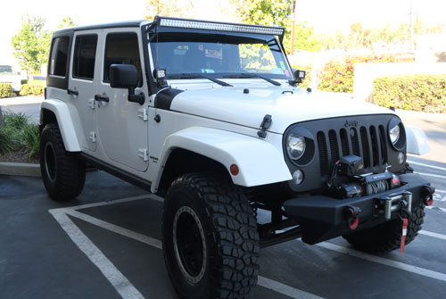
<path fill-rule="evenodd" d="M 222 177 L 222 179 L 231 179 L 227 169 L 220 162 L 201 154 L 177 148 L 170 153 L 168 162 L 164 166 L 157 194 L 164 195 L 174 179 L 191 172 L 210 172 L 212 175 Z"/>

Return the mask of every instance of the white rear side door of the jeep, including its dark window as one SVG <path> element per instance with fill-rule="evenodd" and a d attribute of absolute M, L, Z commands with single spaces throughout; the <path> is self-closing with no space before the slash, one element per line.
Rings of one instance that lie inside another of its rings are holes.
<path fill-rule="evenodd" d="M 76 106 L 84 138 L 82 149 L 94 152 L 97 145 L 95 133 L 95 94 L 100 70 L 95 70 L 98 58 L 96 49 L 102 30 L 77 31 L 74 34 L 70 61 L 68 94 L 70 104 Z"/>

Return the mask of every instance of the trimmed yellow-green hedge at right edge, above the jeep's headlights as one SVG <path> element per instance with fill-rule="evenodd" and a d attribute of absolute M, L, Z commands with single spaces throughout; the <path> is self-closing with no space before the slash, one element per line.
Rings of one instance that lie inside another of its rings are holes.
<path fill-rule="evenodd" d="M 400 75 L 376 78 L 373 101 L 384 107 L 446 113 L 446 75 Z"/>

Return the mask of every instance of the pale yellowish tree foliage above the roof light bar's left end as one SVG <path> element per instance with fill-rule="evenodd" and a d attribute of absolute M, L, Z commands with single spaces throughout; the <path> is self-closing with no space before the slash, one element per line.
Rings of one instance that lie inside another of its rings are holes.
<path fill-rule="evenodd" d="M 191 18 L 194 13 L 192 0 L 149 0 L 146 5 L 146 20 L 153 20 L 157 14 L 165 17 Z"/>

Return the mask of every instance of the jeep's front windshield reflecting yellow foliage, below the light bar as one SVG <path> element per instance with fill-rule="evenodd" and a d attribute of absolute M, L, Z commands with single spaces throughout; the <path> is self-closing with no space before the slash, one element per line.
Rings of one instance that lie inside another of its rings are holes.
<path fill-rule="evenodd" d="M 259 74 L 293 79 L 276 37 L 252 34 L 161 32 L 151 42 L 153 65 L 175 74 L 207 74 L 223 78 Z"/>

